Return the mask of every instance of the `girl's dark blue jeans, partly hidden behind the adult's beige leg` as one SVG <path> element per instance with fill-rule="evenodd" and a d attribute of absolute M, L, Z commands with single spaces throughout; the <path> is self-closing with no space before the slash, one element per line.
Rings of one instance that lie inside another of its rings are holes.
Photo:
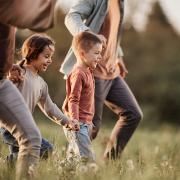
<path fill-rule="evenodd" d="M 0 133 L 2 135 L 4 143 L 9 145 L 10 155 L 13 155 L 13 157 L 17 157 L 17 154 L 19 152 L 19 145 L 16 139 L 11 135 L 11 133 L 8 130 L 4 128 L 0 128 Z M 46 139 L 42 138 L 40 149 L 41 159 L 47 159 L 49 154 L 52 153 L 52 151 L 53 145 L 50 144 Z"/>

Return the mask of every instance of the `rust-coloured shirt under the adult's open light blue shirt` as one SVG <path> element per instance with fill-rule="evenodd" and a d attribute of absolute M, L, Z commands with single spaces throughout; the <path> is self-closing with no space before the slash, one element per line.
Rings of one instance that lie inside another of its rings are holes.
<path fill-rule="evenodd" d="M 108 1 L 108 12 L 99 34 L 107 39 L 107 47 L 94 71 L 94 76 L 101 79 L 113 79 L 120 74 L 117 64 L 117 40 L 120 23 L 120 4 L 118 0 Z"/>

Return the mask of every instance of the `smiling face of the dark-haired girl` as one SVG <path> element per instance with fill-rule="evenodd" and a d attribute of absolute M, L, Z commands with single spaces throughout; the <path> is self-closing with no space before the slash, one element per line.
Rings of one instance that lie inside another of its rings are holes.
<path fill-rule="evenodd" d="M 44 50 L 38 55 L 37 59 L 31 61 L 30 65 L 37 72 L 45 72 L 48 66 L 52 63 L 52 56 L 54 54 L 54 46 L 45 46 Z"/>

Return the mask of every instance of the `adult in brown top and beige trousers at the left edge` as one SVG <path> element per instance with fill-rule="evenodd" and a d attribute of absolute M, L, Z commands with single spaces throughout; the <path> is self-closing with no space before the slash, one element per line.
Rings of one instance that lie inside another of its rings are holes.
<path fill-rule="evenodd" d="M 44 31 L 53 25 L 55 0 L 0 0 L 0 126 L 17 139 L 16 179 L 30 177 L 39 160 L 41 135 L 16 87 L 6 79 L 14 59 L 15 27 Z"/>

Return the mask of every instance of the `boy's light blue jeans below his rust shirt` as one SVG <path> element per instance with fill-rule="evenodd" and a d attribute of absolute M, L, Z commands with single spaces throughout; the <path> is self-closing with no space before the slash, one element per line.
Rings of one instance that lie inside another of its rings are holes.
<path fill-rule="evenodd" d="M 76 156 L 87 161 L 95 161 L 95 154 L 90 139 L 92 125 L 80 123 L 78 132 L 68 131 L 64 128 L 68 140 L 67 158 Z"/>

